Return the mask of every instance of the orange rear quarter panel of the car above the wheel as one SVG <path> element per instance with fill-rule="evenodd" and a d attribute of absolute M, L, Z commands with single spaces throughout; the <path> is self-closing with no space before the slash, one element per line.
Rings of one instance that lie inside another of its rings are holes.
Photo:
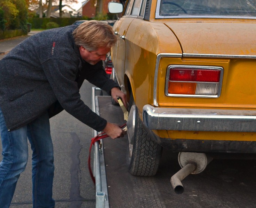
<path fill-rule="evenodd" d="M 181 47 L 175 35 L 164 24 L 142 19 L 132 21 L 125 41 L 125 79 L 129 79 L 136 105 L 142 112 L 145 104 L 153 104 L 154 71 L 158 53 L 171 51 L 181 54 Z"/>

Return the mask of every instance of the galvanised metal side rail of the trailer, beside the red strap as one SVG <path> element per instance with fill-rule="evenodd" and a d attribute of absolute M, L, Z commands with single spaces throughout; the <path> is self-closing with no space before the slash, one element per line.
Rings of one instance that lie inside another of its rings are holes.
<path fill-rule="evenodd" d="M 92 87 L 92 110 L 99 115 L 98 98 L 96 92 L 102 90 L 98 87 Z M 93 137 L 99 133 L 93 130 Z M 107 192 L 107 179 L 105 170 L 105 160 L 103 148 L 99 147 L 102 144 L 102 139 L 94 144 L 94 176 L 95 176 L 95 189 L 96 189 L 96 208 L 109 208 L 109 197 Z"/>

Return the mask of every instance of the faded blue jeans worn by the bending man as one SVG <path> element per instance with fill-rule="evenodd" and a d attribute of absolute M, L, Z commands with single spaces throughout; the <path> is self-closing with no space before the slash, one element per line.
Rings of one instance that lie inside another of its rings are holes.
<path fill-rule="evenodd" d="M 8 131 L 0 109 L 0 132 L 3 156 L 0 163 L 0 207 L 10 206 L 19 175 L 25 170 L 28 138 L 33 152 L 33 208 L 53 208 L 54 157 L 48 113 L 19 129 Z"/>

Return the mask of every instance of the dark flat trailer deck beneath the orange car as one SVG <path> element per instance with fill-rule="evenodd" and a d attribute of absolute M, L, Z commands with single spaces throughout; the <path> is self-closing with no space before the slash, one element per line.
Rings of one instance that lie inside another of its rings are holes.
<path fill-rule="evenodd" d="M 95 112 L 109 122 L 126 122 L 120 106 L 111 104 L 110 96 L 95 96 L 95 103 Z M 102 201 L 97 204 L 96 197 L 96 207 L 255 207 L 255 160 L 214 159 L 202 173 L 187 176 L 182 181 L 184 193 L 176 194 L 170 177 L 181 169 L 177 156 L 178 153 L 164 149 L 155 176 L 133 176 L 128 171 L 127 135 L 103 139 L 99 157 L 101 170 L 105 171 L 101 173 L 101 183 L 106 200 L 104 205 Z"/>

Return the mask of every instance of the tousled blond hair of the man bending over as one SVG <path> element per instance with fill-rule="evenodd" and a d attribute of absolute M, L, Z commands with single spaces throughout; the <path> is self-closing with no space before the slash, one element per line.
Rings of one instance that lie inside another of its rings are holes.
<path fill-rule="evenodd" d="M 110 25 L 97 20 L 85 21 L 73 31 L 75 44 L 88 51 L 96 51 L 100 47 L 111 47 L 117 37 Z"/>

